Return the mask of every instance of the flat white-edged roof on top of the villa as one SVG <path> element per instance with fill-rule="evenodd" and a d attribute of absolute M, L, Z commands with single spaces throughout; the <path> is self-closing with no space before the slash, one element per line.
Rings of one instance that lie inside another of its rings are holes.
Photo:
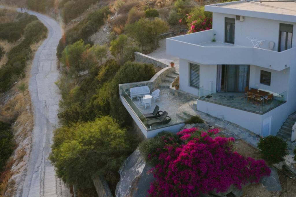
<path fill-rule="evenodd" d="M 296 22 L 295 1 L 232 1 L 205 6 L 206 11 Z"/>

